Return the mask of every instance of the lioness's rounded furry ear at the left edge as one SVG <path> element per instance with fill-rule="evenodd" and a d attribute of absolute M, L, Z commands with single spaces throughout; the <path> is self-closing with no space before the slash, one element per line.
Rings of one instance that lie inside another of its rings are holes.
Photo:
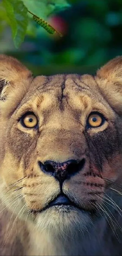
<path fill-rule="evenodd" d="M 15 87 L 22 86 L 31 77 L 31 72 L 17 59 L 0 55 L 0 99 L 6 99 Z"/>

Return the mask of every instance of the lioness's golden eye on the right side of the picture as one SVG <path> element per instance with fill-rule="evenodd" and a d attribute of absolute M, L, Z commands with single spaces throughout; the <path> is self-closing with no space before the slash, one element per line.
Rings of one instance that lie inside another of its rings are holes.
<path fill-rule="evenodd" d="M 88 118 L 88 124 L 92 127 L 98 127 L 102 124 L 102 117 L 99 114 L 91 114 Z"/>

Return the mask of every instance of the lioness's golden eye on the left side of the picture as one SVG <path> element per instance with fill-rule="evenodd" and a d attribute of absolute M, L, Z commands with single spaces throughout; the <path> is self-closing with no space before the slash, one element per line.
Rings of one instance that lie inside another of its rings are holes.
<path fill-rule="evenodd" d="M 27 128 L 35 127 L 37 123 L 38 120 L 34 114 L 28 114 L 23 118 L 23 124 L 25 124 Z"/>

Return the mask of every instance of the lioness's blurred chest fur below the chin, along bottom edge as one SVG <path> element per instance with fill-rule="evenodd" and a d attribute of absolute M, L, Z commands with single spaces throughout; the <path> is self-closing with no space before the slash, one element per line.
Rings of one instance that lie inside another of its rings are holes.
<path fill-rule="evenodd" d="M 44 230 L 38 231 L 32 223 L 25 225 L 25 221 L 20 219 L 16 219 L 11 230 L 15 218 L 16 216 L 12 216 L 12 213 L 6 209 L 2 211 L 0 216 L 0 255 L 122 255 L 121 243 L 118 242 L 104 218 L 101 221 L 98 220 L 94 224 L 94 228 L 88 229 L 84 234 L 79 233 L 77 236 L 64 234 L 63 238 Z M 121 240 L 120 236 L 119 238 Z"/>

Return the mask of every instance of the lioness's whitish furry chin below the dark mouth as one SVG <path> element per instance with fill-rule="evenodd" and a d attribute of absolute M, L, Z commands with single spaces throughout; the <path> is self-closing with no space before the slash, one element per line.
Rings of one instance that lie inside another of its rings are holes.
<path fill-rule="evenodd" d="M 85 232 L 91 225 L 91 215 L 87 211 L 71 205 L 55 205 L 37 212 L 33 218 L 38 230 L 48 231 L 55 235 Z"/>

